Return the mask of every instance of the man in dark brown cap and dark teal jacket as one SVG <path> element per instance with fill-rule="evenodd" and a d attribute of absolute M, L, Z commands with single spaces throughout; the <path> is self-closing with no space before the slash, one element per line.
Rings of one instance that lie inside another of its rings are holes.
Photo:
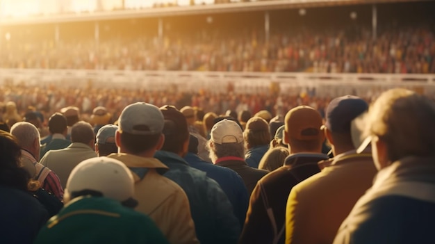
<path fill-rule="evenodd" d="M 165 143 L 154 155 L 170 170 L 165 177 L 175 181 L 188 195 L 192 219 L 201 243 L 237 243 L 240 225 L 227 195 L 204 172 L 183 159 L 188 152 L 189 131 L 186 115 L 174 106 L 160 108 L 165 117 Z"/>

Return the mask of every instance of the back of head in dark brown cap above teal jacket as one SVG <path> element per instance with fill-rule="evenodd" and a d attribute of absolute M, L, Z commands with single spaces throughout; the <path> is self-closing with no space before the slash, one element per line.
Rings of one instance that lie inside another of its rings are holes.
<path fill-rule="evenodd" d="M 160 108 L 165 117 L 165 143 L 163 151 L 173 152 L 174 154 L 184 154 L 186 152 L 184 144 L 189 140 L 189 129 L 186 117 L 174 106 L 165 105 Z M 186 148 L 187 149 L 187 148 Z"/>

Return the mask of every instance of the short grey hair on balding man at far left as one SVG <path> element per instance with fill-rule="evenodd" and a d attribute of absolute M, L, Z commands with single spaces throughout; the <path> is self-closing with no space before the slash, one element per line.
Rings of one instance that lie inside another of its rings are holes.
<path fill-rule="evenodd" d="M 17 138 L 18 145 L 22 148 L 33 146 L 35 139 L 41 139 L 38 129 L 29 122 L 17 122 L 10 128 L 10 133 Z"/>

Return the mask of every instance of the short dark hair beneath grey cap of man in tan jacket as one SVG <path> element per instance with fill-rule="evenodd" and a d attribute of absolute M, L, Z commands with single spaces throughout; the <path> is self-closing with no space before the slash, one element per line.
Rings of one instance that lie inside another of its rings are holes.
<path fill-rule="evenodd" d="M 121 144 L 131 154 L 140 154 L 147 152 L 158 143 L 161 134 L 155 135 L 135 135 L 122 131 L 120 133 Z"/>

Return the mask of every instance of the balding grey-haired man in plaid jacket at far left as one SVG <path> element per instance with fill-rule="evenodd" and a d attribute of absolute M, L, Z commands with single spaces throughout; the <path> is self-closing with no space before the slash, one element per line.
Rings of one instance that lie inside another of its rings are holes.
<path fill-rule="evenodd" d="M 38 163 L 40 160 L 40 134 L 36 127 L 28 122 L 18 122 L 10 128 L 10 133 L 15 136 L 21 147 L 20 162 L 28 170 L 32 179 L 39 181 L 40 187 L 52 193 L 60 201 L 63 200 L 63 188 L 59 177 L 49 168 Z"/>

